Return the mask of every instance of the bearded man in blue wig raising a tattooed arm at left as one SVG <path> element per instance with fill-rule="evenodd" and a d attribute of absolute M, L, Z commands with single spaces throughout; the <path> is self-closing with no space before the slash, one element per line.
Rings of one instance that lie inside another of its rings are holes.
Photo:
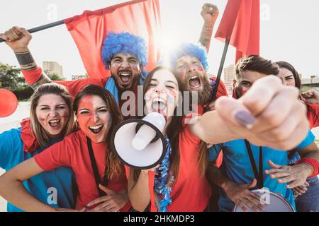
<path fill-rule="evenodd" d="M 21 72 L 33 89 L 43 83 L 55 82 L 65 85 L 72 97 L 75 97 L 79 90 L 82 90 L 86 85 L 99 85 L 109 90 L 121 107 L 125 102 L 120 98 L 122 93 L 129 90 L 137 96 L 138 83 L 146 76 L 145 71 L 143 71 L 147 64 L 145 40 L 128 32 L 109 32 L 103 42 L 101 57 L 106 69 L 111 71 L 110 78 L 83 78 L 75 81 L 51 81 L 45 75 L 33 60 L 28 49 L 32 36 L 26 29 L 13 27 L 0 34 L 0 37 L 6 40 L 6 44 L 13 49 L 21 66 Z M 128 107 L 135 107 L 135 100 L 132 101 L 130 100 Z M 135 112 L 135 109 L 124 110 Z M 128 115 L 128 112 L 122 112 L 123 116 L 135 117 L 132 114 Z"/>

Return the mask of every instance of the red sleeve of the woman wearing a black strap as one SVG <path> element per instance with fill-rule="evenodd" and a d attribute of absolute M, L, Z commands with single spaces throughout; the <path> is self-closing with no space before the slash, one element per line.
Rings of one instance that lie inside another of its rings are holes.
<path fill-rule="evenodd" d="M 70 167 L 72 160 L 72 147 L 77 147 L 79 143 L 70 142 L 70 136 L 65 138 L 65 140 L 55 143 L 49 148 L 43 150 L 42 153 L 34 156 L 35 162 L 44 171 L 51 171 L 58 167 Z"/>

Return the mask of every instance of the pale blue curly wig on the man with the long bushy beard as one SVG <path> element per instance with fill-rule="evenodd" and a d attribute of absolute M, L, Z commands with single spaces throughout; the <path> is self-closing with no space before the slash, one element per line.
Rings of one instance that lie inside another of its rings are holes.
<path fill-rule="evenodd" d="M 207 53 L 205 47 L 202 47 L 198 44 L 180 44 L 174 51 L 170 54 L 170 66 L 172 69 L 174 69 L 176 61 L 185 56 L 189 55 L 191 57 L 196 57 L 201 61 L 201 64 L 203 65 L 203 68 L 205 71 L 208 70 L 208 61 L 207 61 Z"/>

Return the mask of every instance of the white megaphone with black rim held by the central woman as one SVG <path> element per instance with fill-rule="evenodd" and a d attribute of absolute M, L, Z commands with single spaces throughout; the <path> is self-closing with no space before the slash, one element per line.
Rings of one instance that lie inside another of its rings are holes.
<path fill-rule="evenodd" d="M 116 126 L 111 136 L 111 148 L 119 159 L 135 169 L 150 169 L 159 165 L 166 152 L 162 131 L 166 120 L 151 112 L 143 119 L 128 119 Z"/>

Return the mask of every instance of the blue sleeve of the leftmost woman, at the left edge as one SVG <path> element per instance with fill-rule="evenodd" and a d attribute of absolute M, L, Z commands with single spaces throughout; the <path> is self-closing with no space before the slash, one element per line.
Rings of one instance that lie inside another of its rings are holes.
<path fill-rule="evenodd" d="M 19 158 L 17 150 L 21 148 L 21 133 L 18 129 L 11 129 L 0 134 L 0 167 L 10 169 Z"/>

